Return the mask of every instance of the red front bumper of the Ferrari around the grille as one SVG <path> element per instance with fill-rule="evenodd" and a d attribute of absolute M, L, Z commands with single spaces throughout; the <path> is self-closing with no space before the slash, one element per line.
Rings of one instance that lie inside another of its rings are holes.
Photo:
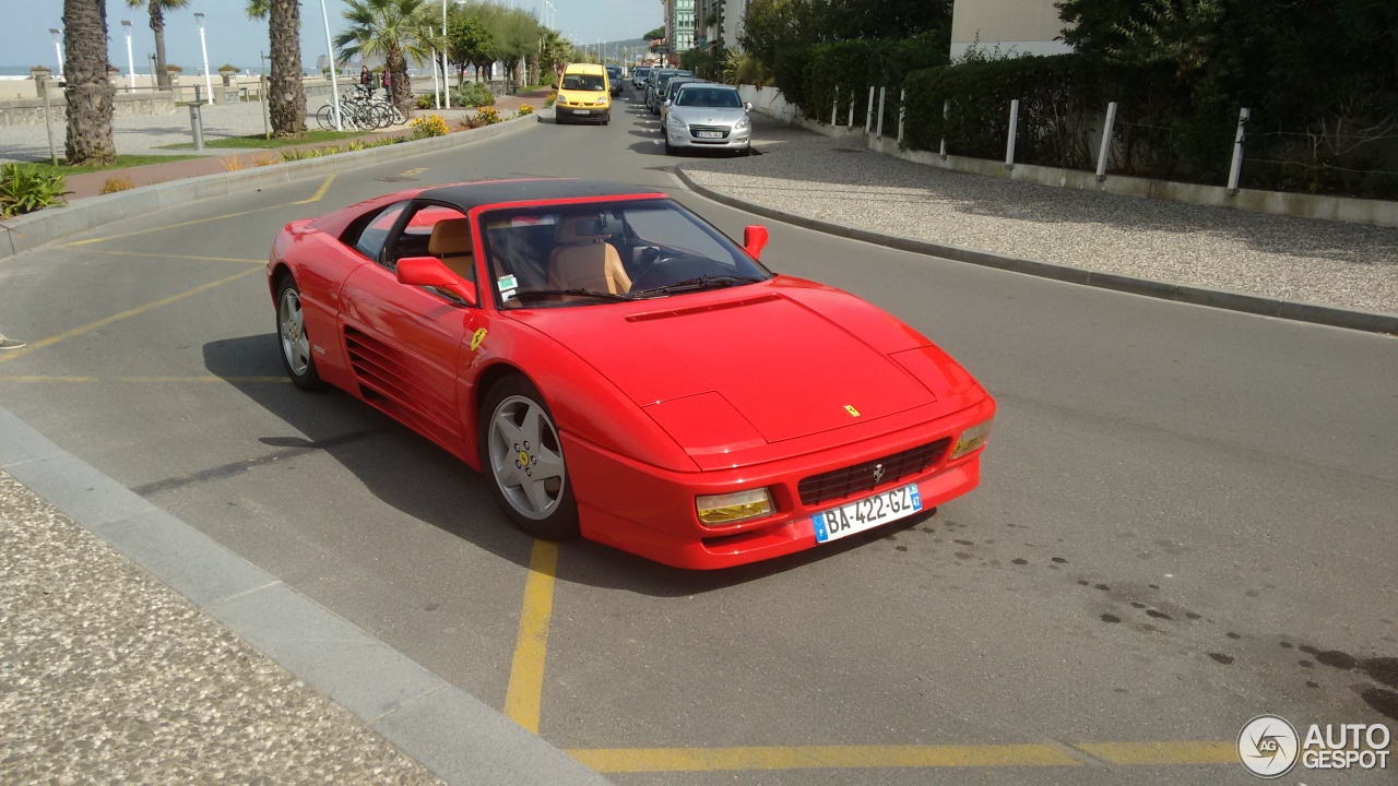
<path fill-rule="evenodd" d="M 877 439 L 766 464 L 705 473 L 675 473 L 640 464 L 569 432 L 562 434 L 562 441 L 583 537 L 675 568 L 714 569 L 811 548 L 818 544 L 812 515 L 889 488 L 917 483 L 927 510 L 972 491 L 980 484 L 983 449 L 949 462 L 948 448 L 921 473 L 889 478 L 871 491 L 811 506 L 801 502 L 798 484 L 811 476 L 938 439 L 955 443 L 962 431 L 994 414 L 995 403 L 986 397 L 959 413 Z M 776 508 L 772 515 L 720 527 L 699 523 L 695 496 L 762 487 L 772 490 Z"/>

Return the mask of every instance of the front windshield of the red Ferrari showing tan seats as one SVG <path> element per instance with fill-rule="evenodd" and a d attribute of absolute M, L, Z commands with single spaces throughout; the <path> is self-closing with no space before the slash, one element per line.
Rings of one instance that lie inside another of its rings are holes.
<path fill-rule="evenodd" d="M 495 210 L 481 225 L 503 309 L 664 298 L 772 277 L 671 200 Z"/>

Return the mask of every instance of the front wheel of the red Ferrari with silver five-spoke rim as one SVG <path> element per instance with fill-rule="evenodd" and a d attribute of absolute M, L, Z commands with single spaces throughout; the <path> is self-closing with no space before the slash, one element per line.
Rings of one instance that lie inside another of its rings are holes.
<path fill-rule="evenodd" d="M 563 443 L 544 396 L 523 376 L 506 376 L 481 406 L 478 450 L 496 505 L 527 534 L 577 534 L 577 499 Z"/>

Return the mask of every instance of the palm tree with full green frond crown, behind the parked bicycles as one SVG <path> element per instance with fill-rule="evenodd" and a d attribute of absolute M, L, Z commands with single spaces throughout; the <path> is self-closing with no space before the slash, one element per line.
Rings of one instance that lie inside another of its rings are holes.
<path fill-rule="evenodd" d="M 408 57 L 424 63 L 432 48 L 442 46 L 432 29 L 431 8 L 425 0 L 347 0 L 347 6 L 344 18 L 350 29 L 336 36 L 340 62 L 382 56 L 391 76 L 393 103 L 411 115 Z"/>

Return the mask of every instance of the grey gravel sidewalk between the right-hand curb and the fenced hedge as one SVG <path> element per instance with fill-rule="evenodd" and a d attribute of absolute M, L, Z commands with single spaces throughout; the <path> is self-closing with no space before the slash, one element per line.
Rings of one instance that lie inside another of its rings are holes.
<path fill-rule="evenodd" d="M 691 159 L 717 192 L 811 218 L 1015 257 L 1398 313 L 1398 229 L 1016 183 L 756 119 L 768 155 Z"/>

